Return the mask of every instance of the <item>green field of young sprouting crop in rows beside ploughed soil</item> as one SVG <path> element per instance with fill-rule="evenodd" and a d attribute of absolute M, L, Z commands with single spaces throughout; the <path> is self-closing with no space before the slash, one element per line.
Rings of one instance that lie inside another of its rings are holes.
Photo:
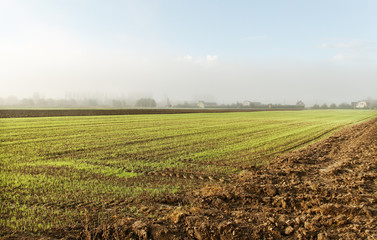
<path fill-rule="evenodd" d="M 375 111 L 0 119 L 0 232 L 49 232 L 148 208 L 302 148 Z M 1 235 L 0 235 L 1 236 Z"/>

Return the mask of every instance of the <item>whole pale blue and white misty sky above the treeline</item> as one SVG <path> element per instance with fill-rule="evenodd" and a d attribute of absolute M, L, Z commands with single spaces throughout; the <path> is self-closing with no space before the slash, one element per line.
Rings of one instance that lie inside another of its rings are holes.
<path fill-rule="evenodd" d="M 377 98 L 375 0 L 0 0 L 0 97 Z"/>

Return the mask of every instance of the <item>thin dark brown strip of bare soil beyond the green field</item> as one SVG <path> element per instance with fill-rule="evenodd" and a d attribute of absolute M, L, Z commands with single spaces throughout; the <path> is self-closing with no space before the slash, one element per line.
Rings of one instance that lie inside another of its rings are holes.
<path fill-rule="evenodd" d="M 227 113 L 258 111 L 298 111 L 302 109 L 0 109 L 0 118 L 97 116 L 136 114 L 182 114 L 182 113 Z"/>

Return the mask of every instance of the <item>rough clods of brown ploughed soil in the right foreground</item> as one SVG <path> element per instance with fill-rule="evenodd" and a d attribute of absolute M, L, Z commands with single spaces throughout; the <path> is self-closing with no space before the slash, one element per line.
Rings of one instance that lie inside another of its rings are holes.
<path fill-rule="evenodd" d="M 44 237 L 377 239 L 377 119 L 250 167 L 228 183 L 165 196 L 144 211 L 158 217 L 115 216 L 102 226 L 88 220 Z"/>

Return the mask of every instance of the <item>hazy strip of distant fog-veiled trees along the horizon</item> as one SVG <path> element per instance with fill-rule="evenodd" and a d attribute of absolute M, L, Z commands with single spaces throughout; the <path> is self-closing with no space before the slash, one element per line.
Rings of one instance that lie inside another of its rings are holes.
<path fill-rule="evenodd" d="M 0 107 L 15 107 L 15 108 L 137 108 L 137 102 L 143 100 L 151 100 L 155 103 L 153 108 L 268 108 L 269 105 L 272 106 L 301 106 L 304 104 L 304 108 L 355 108 L 358 103 L 366 102 L 369 109 L 375 109 L 377 105 L 377 99 L 365 98 L 361 100 L 351 101 L 351 102 L 316 102 L 313 104 L 307 104 L 301 100 L 297 100 L 295 103 L 286 102 L 261 102 L 258 100 L 237 100 L 234 102 L 221 102 L 221 101 L 206 101 L 200 98 L 184 100 L 184 99 L 170 99 L 168 97 L 164 99 L 155 99 L 153 97 L 143 96 L 143 95 L 129 95 L 129 96 L 118 96 L 112 97 L 106 94 L 68 94 L 64 98 L 45 98 L 39 93 L 34 93 L 31 97 L 18 98 L 16 96 L 8 96 L 2 98 L 0 96 Z M 202 103 L 202 104 L 201 104 Z M 203 107 L 199 106 L 202 105 Z M 142 106 L 139 106 L 143 108 Z M 144 106 L 145 107 L 145 106 Z"/>

